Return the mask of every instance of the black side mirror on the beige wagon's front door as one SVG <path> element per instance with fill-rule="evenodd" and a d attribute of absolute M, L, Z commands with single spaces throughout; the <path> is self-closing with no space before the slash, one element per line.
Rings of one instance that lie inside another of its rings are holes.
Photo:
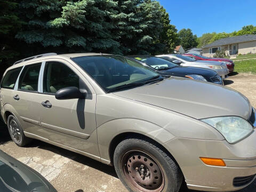
<path fill-rule="evenodd" d="M 81 91 L 77 87 L 65 87 L 56 92 L 55 98 L 58 100 L 65 99 L 85 99 L 86 92 L 81 93 Z"/>

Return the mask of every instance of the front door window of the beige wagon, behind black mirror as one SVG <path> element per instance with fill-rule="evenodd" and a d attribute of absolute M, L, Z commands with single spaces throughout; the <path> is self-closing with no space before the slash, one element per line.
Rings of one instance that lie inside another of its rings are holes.
<path fill-rule="evenodd" d="M 44 93 L 56 93 L 62 88 L 75 86 L 79 89 L 79 77 L 61 62 L 46 62 L 44 71 Z"/>

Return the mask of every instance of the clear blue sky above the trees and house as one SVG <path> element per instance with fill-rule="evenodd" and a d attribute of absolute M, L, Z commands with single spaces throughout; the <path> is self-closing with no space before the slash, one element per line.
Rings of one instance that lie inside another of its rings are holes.
<path fill-rule="evenodd" d="M 178 30 L 231 33 L 246 25 L 256 26 L 256 0 L 158 0 Z"/>

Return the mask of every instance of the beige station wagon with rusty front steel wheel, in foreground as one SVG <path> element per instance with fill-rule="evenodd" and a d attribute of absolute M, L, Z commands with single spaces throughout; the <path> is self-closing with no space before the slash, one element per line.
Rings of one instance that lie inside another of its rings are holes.
<path fill-rule="evenodd" d="M 241 93 L 109 54 L 46 54 L 5 71 L 1 115 L 30 138 L 114 165 L 129 191 L 234 191 L 255 179 L 255 110 Z"/>

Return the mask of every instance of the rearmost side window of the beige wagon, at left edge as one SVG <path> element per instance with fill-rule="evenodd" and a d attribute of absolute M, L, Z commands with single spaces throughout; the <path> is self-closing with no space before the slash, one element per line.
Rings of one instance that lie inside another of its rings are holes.
<path fill-rule="evenodd" d="M 20 74 L 22 67 L 11 69 L 6 72 L 1 87 L 5 89 L 14 89 L 15 82 Z"/>

